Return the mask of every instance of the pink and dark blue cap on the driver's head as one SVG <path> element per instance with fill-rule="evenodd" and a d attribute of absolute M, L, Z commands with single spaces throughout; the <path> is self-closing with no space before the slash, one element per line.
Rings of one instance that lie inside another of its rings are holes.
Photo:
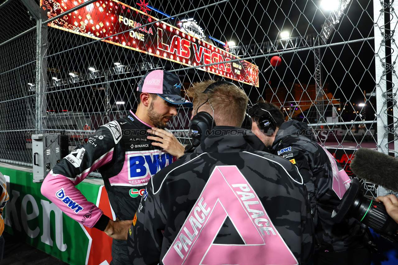
<path fill-rule="evenodd" d="M 137 91 L 158 94 L 167 102 L 192 108 L 192 103 L 181 97 L 181 86 L 177 75 L 164 70 L 154 70 L 141 78 Z"/>

